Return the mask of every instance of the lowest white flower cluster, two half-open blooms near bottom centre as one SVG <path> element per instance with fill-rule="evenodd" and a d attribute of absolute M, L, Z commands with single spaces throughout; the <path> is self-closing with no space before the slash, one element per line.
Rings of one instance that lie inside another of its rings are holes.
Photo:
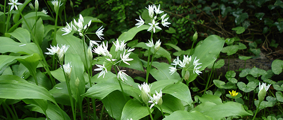
<path fill-rule="evenodd" d="M 150 88 L 149 85 L 147 83 L 143 83 L 141 86 L 139 86 L 139 89 L 141 90 L 141 95 L 142 96 L 142 101 L 144 103 L 152 103 L 150 106 L 150 109 L 154 106 L 154 105 L 158 105 L 159 107 L 161 107 L 163 100 L 162 100 L 162 89 L 160 89 L 160 92 L 158 93 L 155 90 L 155 94 L 153 94 L 153 97 L 150 95 Z"/>

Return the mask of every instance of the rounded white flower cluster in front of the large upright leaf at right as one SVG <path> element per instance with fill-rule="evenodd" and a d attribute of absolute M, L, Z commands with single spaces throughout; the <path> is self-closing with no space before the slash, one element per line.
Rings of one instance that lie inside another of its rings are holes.
<path fill-rule="evenodd" d="M 171 73 L 170 75 L 172 75 L 174 72 L 177 71 L 177 65 L 179 66 L 180 69 L 184 69 L 187 70 L 188 68 L 190 68 L 191 66 L 189 66 L 190 62 L 192 60 L 192 56 L 185 56 L 184 55 L 184 59 L 183 61 L 182 60 L 179 60 L 179 57 L 177 56 L 176 59 L 173 60 L 173 63 L 171 63 L 172 65 L 175 65 L 175 67 L 169 67 L 169 70 Z M 199 59 L 198 59 L 199 60 Z M 193 69 L 193 72 L 194 74 L 197 73 L 199 75 L 199 73 L 202 73 L 199 71 L 199 68 L 201 68 L 201 66 L 198 66 L 202 63 L 198 63 L 198 60 L 197 60 L 197 57 L 195 58 L 194 62 L 193 62 L 193 66 L 194 66 L 194 69 Z"/>

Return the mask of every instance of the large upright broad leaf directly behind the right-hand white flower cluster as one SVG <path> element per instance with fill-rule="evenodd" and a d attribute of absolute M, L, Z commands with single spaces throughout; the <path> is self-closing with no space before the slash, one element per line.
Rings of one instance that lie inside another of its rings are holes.
<path fill-rule="evenodd" d="M 195 60 L 195 57 L 199 59 L 199 63 L 202 63 L 199 66 L 202 66 L 199 70 L 204 70 L 209 64 L 212 64 L 215 60 L 217 60 L 217 56 L 219 56 L 220 51 L 224 46 L 225 40 L 222 40 L 217 35 L 210 35 L 205 38 L 201 45 L 198 45 L 195 48 L 195 53 L 192 55 L 192 60 Z M 192 65 L 191 62 L 189 65 Z M 193 67 L 192 67 L 193 69 Z M 190 73 L 193 73 L 193 70 L 189 70 Z M 191 74 L 188 82 L 192 82 L 196 79 L 197 74 Z"/>

